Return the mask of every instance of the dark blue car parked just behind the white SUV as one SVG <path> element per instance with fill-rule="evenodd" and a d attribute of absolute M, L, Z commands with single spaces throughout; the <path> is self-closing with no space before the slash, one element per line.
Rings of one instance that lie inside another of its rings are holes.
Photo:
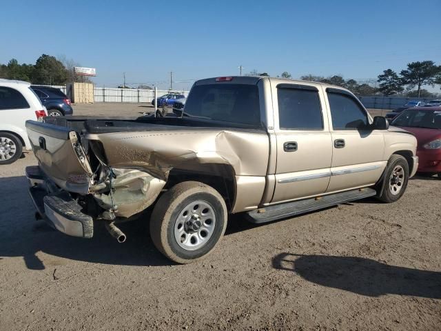
<path fill-rule="evenodd" d="M 43 103 L 43 106 L 48 110 L 48 116 L 64 116 L 72 115 L 74 110 L 70 106 L 70 99 L 66 94 L 61 92 L 59 88 L 52 88 L 50 86 L 30 86 L 34 90 L 37 97 Z"/>

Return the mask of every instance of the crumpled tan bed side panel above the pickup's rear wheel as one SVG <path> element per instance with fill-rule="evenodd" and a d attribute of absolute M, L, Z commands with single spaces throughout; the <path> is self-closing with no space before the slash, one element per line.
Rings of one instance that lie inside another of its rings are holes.
<path fill-rule="evenodd" d="M 200 165 L 216 163 L 231 165 L 236 177 L 265 177 L 267 174 L 269 140 L 263 130 L 209 128 L 166 132 L 117 132 L 88 134 L 87 138 L 101 141 L 108 165 L 112 168 L 139 170 L 130 174 L 130 180 L 133 181 L 138 176 L 143 178 L 142 182 L 145 185 L 150 185 L 141 199 L 142 202 L 139 201 L 139 194 L 130 193 L 130 188 L 120 188 L 118 192 L 118 188 L 114 186 L 114 199 L 116 194 L 124 196 L 121 197 L 124 203 L 119 205 L 119 213 L 124 214 L 120 216 L 124 217 L 134 214 L 134 209 L 139 212 L 151 205 L 173 168 L 197 171 Z M 148 179 L 148 184 L 145 174 L 152 176 Z M 119 176 L 116 176 L 116 179 L 118 180 Z M 263 195 L 264 185 L 261 190 L 260 197 Z M 256 195 L 259 194 L 255 194 L 254 197 Z M 247 201 L 243 201 L 246 197 L 240 199 L 242 205 L 247 205 Z M 134 203 L 131 207 L 131 201 L 136 200 L 139 203 Z M 255 201 L 250 201 L 250 204 L 254 203 Z M 125 211 L 121 208 L 125 208 Z"/>

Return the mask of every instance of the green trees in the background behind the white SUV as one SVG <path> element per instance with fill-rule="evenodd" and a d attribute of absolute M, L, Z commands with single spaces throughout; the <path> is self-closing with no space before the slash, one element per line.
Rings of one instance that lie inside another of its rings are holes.
<path fill-rule="evenodd" d="M 8 64 L 0 64 L 0 78 L 29 81 L 33 84 L 64 85 L 73 81 L 90 81 L 74 73 L 74 67 L 79 66 L 72 59 L 64 56 L 52 57 L 42 54 L 35 64 L 20 64 L 17 59 L 11 59 Z"/>

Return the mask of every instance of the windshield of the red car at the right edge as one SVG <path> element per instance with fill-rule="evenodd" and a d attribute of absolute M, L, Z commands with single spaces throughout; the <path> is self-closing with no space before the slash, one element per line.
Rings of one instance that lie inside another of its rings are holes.
<path fill-rule="evenodd" d="M 441 129 L 441 110 L 404 110 L 392 121 L 391 125 Z"/>

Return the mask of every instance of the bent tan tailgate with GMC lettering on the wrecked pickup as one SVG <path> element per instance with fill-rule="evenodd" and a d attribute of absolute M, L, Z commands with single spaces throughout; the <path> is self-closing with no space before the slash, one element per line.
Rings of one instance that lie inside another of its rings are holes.
<path fill-rule="evenodd" d="M 26 121 L 41 170 L 64 190 L 87 194 L 92 171 L 78 134 L 72 128 Z"/>

